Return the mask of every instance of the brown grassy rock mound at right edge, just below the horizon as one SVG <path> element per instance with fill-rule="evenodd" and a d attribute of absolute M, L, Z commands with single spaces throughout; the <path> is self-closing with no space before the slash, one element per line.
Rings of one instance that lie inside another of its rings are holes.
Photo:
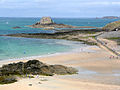
<path fill-rule="evenodd" d="M 107 31 L 120 30 L 120 21 L 115 21 L 115 22 L 107 24 L 106 26 L 103 27 L 103 30 L 107 30 Z"/>

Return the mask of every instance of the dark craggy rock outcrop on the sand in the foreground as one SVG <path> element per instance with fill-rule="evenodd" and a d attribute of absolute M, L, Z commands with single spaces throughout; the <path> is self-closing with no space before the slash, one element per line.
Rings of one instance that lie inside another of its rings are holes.
<path fill-rule="evenodd" d="M 16 82 L 15 75 L 45 75 L 53 76 L 54 74 L 76 74 L 77 70 L 72 67 L 63 65 L 47 65 L 38 60 L 29 60 L 27 62 L 11 63 L 3 65 L 0 68 L 0 84 Z"/>

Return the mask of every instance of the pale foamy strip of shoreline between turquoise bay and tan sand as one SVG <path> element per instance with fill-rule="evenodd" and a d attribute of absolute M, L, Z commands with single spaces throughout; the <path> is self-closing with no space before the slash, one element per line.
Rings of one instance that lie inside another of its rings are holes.
<path fill-rule="evenodd" d="M 40 58 L 46 58 L 46 57 L 54 57 L 59 55 L 68 55 L 73 53 L 83 53 L 83 52 L 92 52 L 93 50 L 90 50 L 90 48 L 98 48 L 98 46 L 82 46 L 80 48 L 73 48 L 71 50 L 65 51 L 65 52 L 56 52 L 53 54 L 45 54 L 45 55 L 37 55 L 37 56 L 28 56 L 28 57 L 21 57 L 21 58 L 13 58 L 13 59 L 2 59 L 0 60 L 0 63 L 6 63 L 6 62 L 15 62 L 15 61 L 21 61 L 21 60 L 33 60 L 33 59 L 40 59 Z M 1 64 L 0 64 L 1 66 Z"/>

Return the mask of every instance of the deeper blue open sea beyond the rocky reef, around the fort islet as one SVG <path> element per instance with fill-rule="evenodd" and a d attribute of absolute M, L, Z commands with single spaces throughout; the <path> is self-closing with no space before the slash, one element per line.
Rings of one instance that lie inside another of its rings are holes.
<path fill-rule="evenodd" d="M 117 21 L 119 19 L 92 19 L 92 18 L 53 18 L 56 23 L 64 23 L 74 26 L 95 26 L 103 27 L 107 23 Z M 40 21 L 40 18 L 0 18 L 0 34 L 13 33 L 52 33 L 54 30 L 41 30 L 26 27 Z M 12 29 L 12 27 L 20 26 L 20 29 Z"/>

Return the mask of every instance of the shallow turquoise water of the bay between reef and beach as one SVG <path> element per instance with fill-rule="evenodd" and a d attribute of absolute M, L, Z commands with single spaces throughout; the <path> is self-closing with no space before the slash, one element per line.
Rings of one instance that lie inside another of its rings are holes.
<path fill-rule="evenodd" d="M 0 37 L 0 60 L 69 52 L 83 46 L 65 40 Z"/>

